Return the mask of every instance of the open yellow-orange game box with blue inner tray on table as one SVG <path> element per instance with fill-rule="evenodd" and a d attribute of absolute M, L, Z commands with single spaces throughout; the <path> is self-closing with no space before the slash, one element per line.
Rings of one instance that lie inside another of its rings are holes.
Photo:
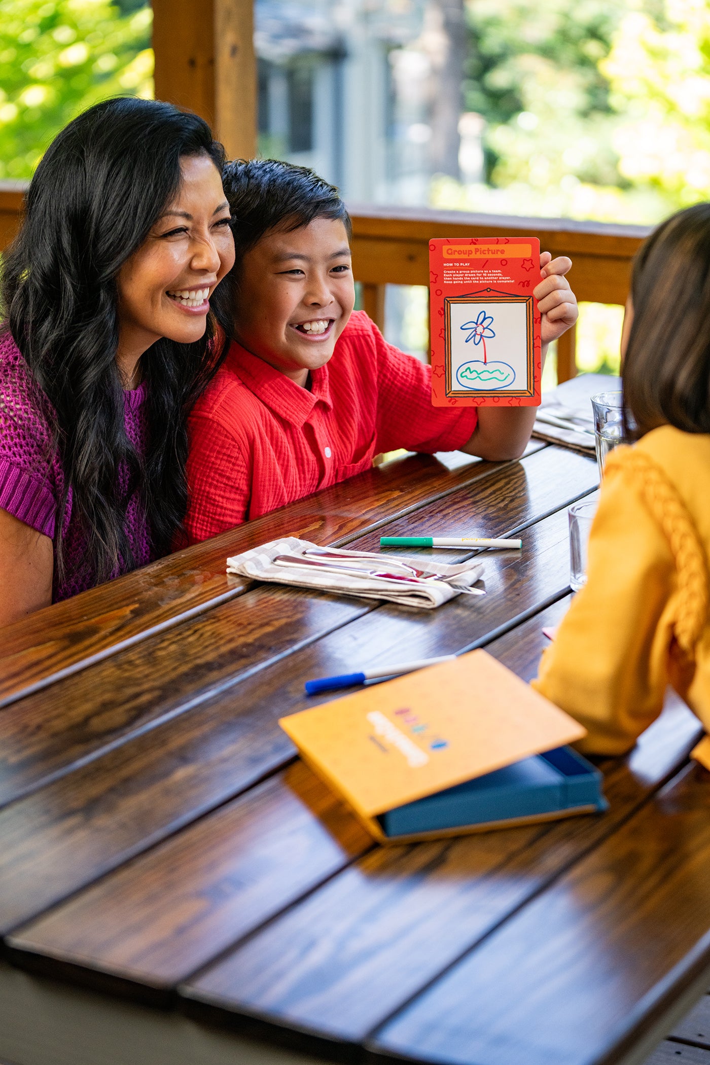
<path fill-rule="evenodd" d="M 382 843 L 606 809 L 584 728 L 484 651 L 280 721 Z"/>

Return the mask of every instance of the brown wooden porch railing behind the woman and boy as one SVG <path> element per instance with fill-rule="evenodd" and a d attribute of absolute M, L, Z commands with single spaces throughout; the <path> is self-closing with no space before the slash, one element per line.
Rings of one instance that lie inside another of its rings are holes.
<path fill-rule="evenodd" d="M 0 181 L 0 250 L 17 232 L 24 187 L 24 182 Z M 649 232 L 645 226 L 426 208 L 350 204 L 350 214 L 353 273 L 363 284 L 365 310 L 380 327 L 385 285 L 429 283 L 432 236 L 538 236 L 543 250 L 572 259 L 569 279 L 579 300 L 625 304 L 631 259 Z M 575 332 L 569 330 L 558 344 L 558 380 L 575 372 Z"/>

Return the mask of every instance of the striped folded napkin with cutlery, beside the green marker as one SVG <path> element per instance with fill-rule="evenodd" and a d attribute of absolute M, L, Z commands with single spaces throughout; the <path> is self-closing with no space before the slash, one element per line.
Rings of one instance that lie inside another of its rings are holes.
<path fill-rule="evenodd" d="M 472 559 L 467 562 L 460 562 L 457 566 L 445 562 L 433 562 L 423 558 L 404 558 L 400 555 L 376 555 L 366 551 L 344 551 L 336 547 L 328 547 L 331 554 L 336 554 L 343 558 L 343 562 L 352 562 L 363 568 L 362 576 L 356 573 L 344 573 L 336 569 L 311 568 L 308 566 L 292 567 L 281 566 L 275 562 L 277 555 L 302 555 L 304 551 L 318 550 L 314 543 L 308 540 L 298 540 L 296 537 L 284 537 L 281 540 L 271 540 L 261 547 L 253 547 L 245 551 L 242 555 L 234 555 L 227 559 L 227 572 L 238 573 L 243 577 L 251 577 L 254 580 L 269 580 L 281 585 L 296 585 L 299 588 L 318 588 L 321 591 L 336 592 L 339 595 L 359 595 L 365 599 L 390 600 L 392 603 L 400 603 L 406 606 L 422 607 L 426 610 L 433 610 L 448 600 L 459 595 L 462 588 L 468 588 L 475 584 L 483 572 L 480 562 Z M 323 547 L 320 548 L 324 550 Z M 310 556 L 317 558 L 316 555 Z M 334 564 L 342 564 L 334 560 L 323 559 L 323 561 L 333 561 Z M 375 577 L 366 571 L 377 570 L 378 572 L 394 572 L 406 574 L 395 562 L 406 562 L 417 570 L 427 570 L 430 573 L 441 574 L 441 580 L 419 580 L 416 584 L 409 584 L 400 580 Z M 458 587 L 457 587 L 458 585 Z"/>

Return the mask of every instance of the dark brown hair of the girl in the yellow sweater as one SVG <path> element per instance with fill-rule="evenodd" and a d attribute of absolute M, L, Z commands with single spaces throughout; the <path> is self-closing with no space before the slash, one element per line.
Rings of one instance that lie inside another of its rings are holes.
<path fill-rule="evenodd" d="M 710 432 L 710 203 L 679 211 L 637 252 L 623 366 L 637 438 L 660 425 Z"/>

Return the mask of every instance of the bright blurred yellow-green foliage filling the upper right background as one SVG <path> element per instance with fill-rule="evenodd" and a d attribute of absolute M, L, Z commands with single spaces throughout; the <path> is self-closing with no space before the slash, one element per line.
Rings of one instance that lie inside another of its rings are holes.
<path fill-rule="evenodd" d="M 710 197 L 708 0 L 466 0 L 485 180 L 441 207 L 654 223 Z"/>

